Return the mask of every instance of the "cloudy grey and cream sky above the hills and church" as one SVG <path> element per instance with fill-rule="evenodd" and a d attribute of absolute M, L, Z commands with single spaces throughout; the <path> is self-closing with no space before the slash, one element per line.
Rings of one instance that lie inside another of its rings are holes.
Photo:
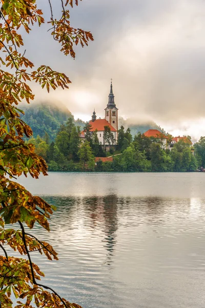
<path fill-rule="evenodd" d="M 38 0 L 49 20 L 49 6 Z M 52 0 L 56 17 L 60 1 Z M 75 118 L 104 117 L 110 79 L 119 115 L 133 123 L 153 120 L 174 136 L 205 136 L 205 1 L 83 0 L 70 9 L 71 25 L 90 30 L 76 59 L 59 51 L 48 25 L 25 35 L 36 65 L 66 73 L 69 90 L 49 94 L 34 85 L 35 100 L 65 104 Z M 34 52 L 35 50 L 35 52 Z"/>

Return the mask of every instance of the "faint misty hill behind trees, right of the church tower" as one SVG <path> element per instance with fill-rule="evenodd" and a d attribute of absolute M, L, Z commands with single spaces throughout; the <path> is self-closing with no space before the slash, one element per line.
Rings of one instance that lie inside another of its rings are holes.
<path fill-rule="evenodd" d="M 139 123 L 139 122 L 137 123 L 137 122 L 138 121 L 134 120 L 134 119 L 127 119 L 127 120 L 125 120 L 124 118 L 119 117 L 119 119 L 118 119 L 118 129 L 120 128 L 121 125 L 124 126 L 125 129 L 127 129 L 129 127 L 133 137 L 138 132 L 144 133 L 148 129 L 158 129 L 161 132 L 163 131 L 163 129 L 161 129 L 161 127 L 158 126 L 153 121 L 141 122 L 141 123 Z"/>

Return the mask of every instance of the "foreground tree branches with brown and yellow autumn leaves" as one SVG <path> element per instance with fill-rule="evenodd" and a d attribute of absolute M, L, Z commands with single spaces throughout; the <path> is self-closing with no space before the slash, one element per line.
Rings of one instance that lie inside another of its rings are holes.
<path fill-rule="evenodd" d="M 61 51 L 74 58 L 74 45 L 87 45 L 89 40 L 93 40 L 92 34 L 70 25 L 70 12 L 66 6 L 73 6 L 72 0 L 59 2 L 63 10 L 59 20 L 53 15 L 50 0 L 48 2 L 51 8 L 51 34 L 60 43 Z M 37 82 L 49 92 L 51 88 L 68 88 L 70 80 L 66 74 L 54 71 L 49 66 L 35 67 L 27 59 L 26 50 L 22 49 L 24 30 L 30 33 L 33 24 L 38 23 L 40 26 L 45 22 L 36 1 L 0 0 L 0 3 L 0 50 L 5 54 L 0 58 L 0 248 L 4 254 L 0 256 L 0 305 L 2 308 L 12 306 L 12 292 L 19 308 L 31 307 L 31 301 L 32 305 L 45 308 L 76 307 L 76 304 L 61 298 L 51 287 L 39 283 L 40 276 L 44 274 L 32 262 L 33 251 L 44 253 L 50 260 L 57 260 L 57 253 L 49 243 L 39 241 L 25 230 L 25 224 L 32 229 L 34 223 L 49 230 L 47 219 L 53 207 L 11 180 L 22 174 L 30 174 L 36 179 L 40 172 L 47 175 L 44 159 L 37 156 L 33 144 L 24 141 L 25 137 L 32 136 L 32 130 L 20 119 L 19 113 L 23 111 L 17 108 L 22 100 L 30 103 L 34 99 L 28 82 Z M 75 3 L 77 5 L 77 0 Z M 14 223 L 18 224 L 19 230 L 5 228 L 5 224 Z M 7 246 L 28 258 L 9 256 Z M 26 303 L 22 302 L 22 298 Z"/>

